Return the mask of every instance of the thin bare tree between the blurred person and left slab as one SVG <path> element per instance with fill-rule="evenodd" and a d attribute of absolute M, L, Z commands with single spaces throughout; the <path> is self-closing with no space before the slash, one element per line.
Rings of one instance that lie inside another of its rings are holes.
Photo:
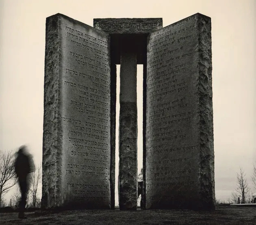
<path fill-rule="evenodd" d="M 33 173 L 30 175 L 30 182 L 31 182 L 31 197 L 32 197 L 32 205 L 33 207 L 36 206 L 37 201 L 39 198 L 37 197 L 37 188 L 38 188 L 38 183 L 39 180 L 41 179 L 41 164 L 37 166 L 37 169 L 34 170 Z"/>

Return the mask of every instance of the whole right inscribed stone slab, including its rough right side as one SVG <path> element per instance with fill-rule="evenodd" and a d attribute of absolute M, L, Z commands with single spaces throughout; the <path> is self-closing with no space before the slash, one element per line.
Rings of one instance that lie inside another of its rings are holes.
<path fill-rule="evenodd" d="M 147 57 L 146 208 L 213 209 L 210 17 L 150 34 Z"/>

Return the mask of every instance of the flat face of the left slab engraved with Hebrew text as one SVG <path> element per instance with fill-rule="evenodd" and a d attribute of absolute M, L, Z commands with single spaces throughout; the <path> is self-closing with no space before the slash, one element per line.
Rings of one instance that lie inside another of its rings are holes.
<path fill-rule="evenodd" d="M 110 208 L 108 35 L 61 14 L 59 122 L 63 206 Z M 59 203 L 56 203 L 59 205 Z"/>

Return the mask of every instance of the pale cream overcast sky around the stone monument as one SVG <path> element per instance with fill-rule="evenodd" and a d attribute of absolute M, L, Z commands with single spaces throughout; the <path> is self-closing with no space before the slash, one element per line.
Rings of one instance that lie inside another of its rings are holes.
<path fill-rule="evenodd" d="M 252 184 L 250 175 L 256 164 L 256 1 L 0 0 L 0 149 L 15 150 L 28 144 L 36 164 L 42 161 L 45 23 L 46 17 L 56 13 L 90 26 L 93 18 L 162 17 L 167 26 L 195 13 L 211 17 L 216 198 L 230 197 L 239 167 Z M 138 81 L 138 89 L 142 93 L 142 81 Z M 140 168 L 142 152 L 138 160 Z"/>

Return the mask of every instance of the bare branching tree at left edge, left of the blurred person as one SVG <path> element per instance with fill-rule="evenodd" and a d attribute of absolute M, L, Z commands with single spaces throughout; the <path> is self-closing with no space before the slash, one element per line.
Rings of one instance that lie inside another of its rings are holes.
<path fill-rule="evenodd" d="M 3 195 L 16 183 L 14 169 L 15 154 L 12 151 L 0 150 L 0 207 Z"/>

